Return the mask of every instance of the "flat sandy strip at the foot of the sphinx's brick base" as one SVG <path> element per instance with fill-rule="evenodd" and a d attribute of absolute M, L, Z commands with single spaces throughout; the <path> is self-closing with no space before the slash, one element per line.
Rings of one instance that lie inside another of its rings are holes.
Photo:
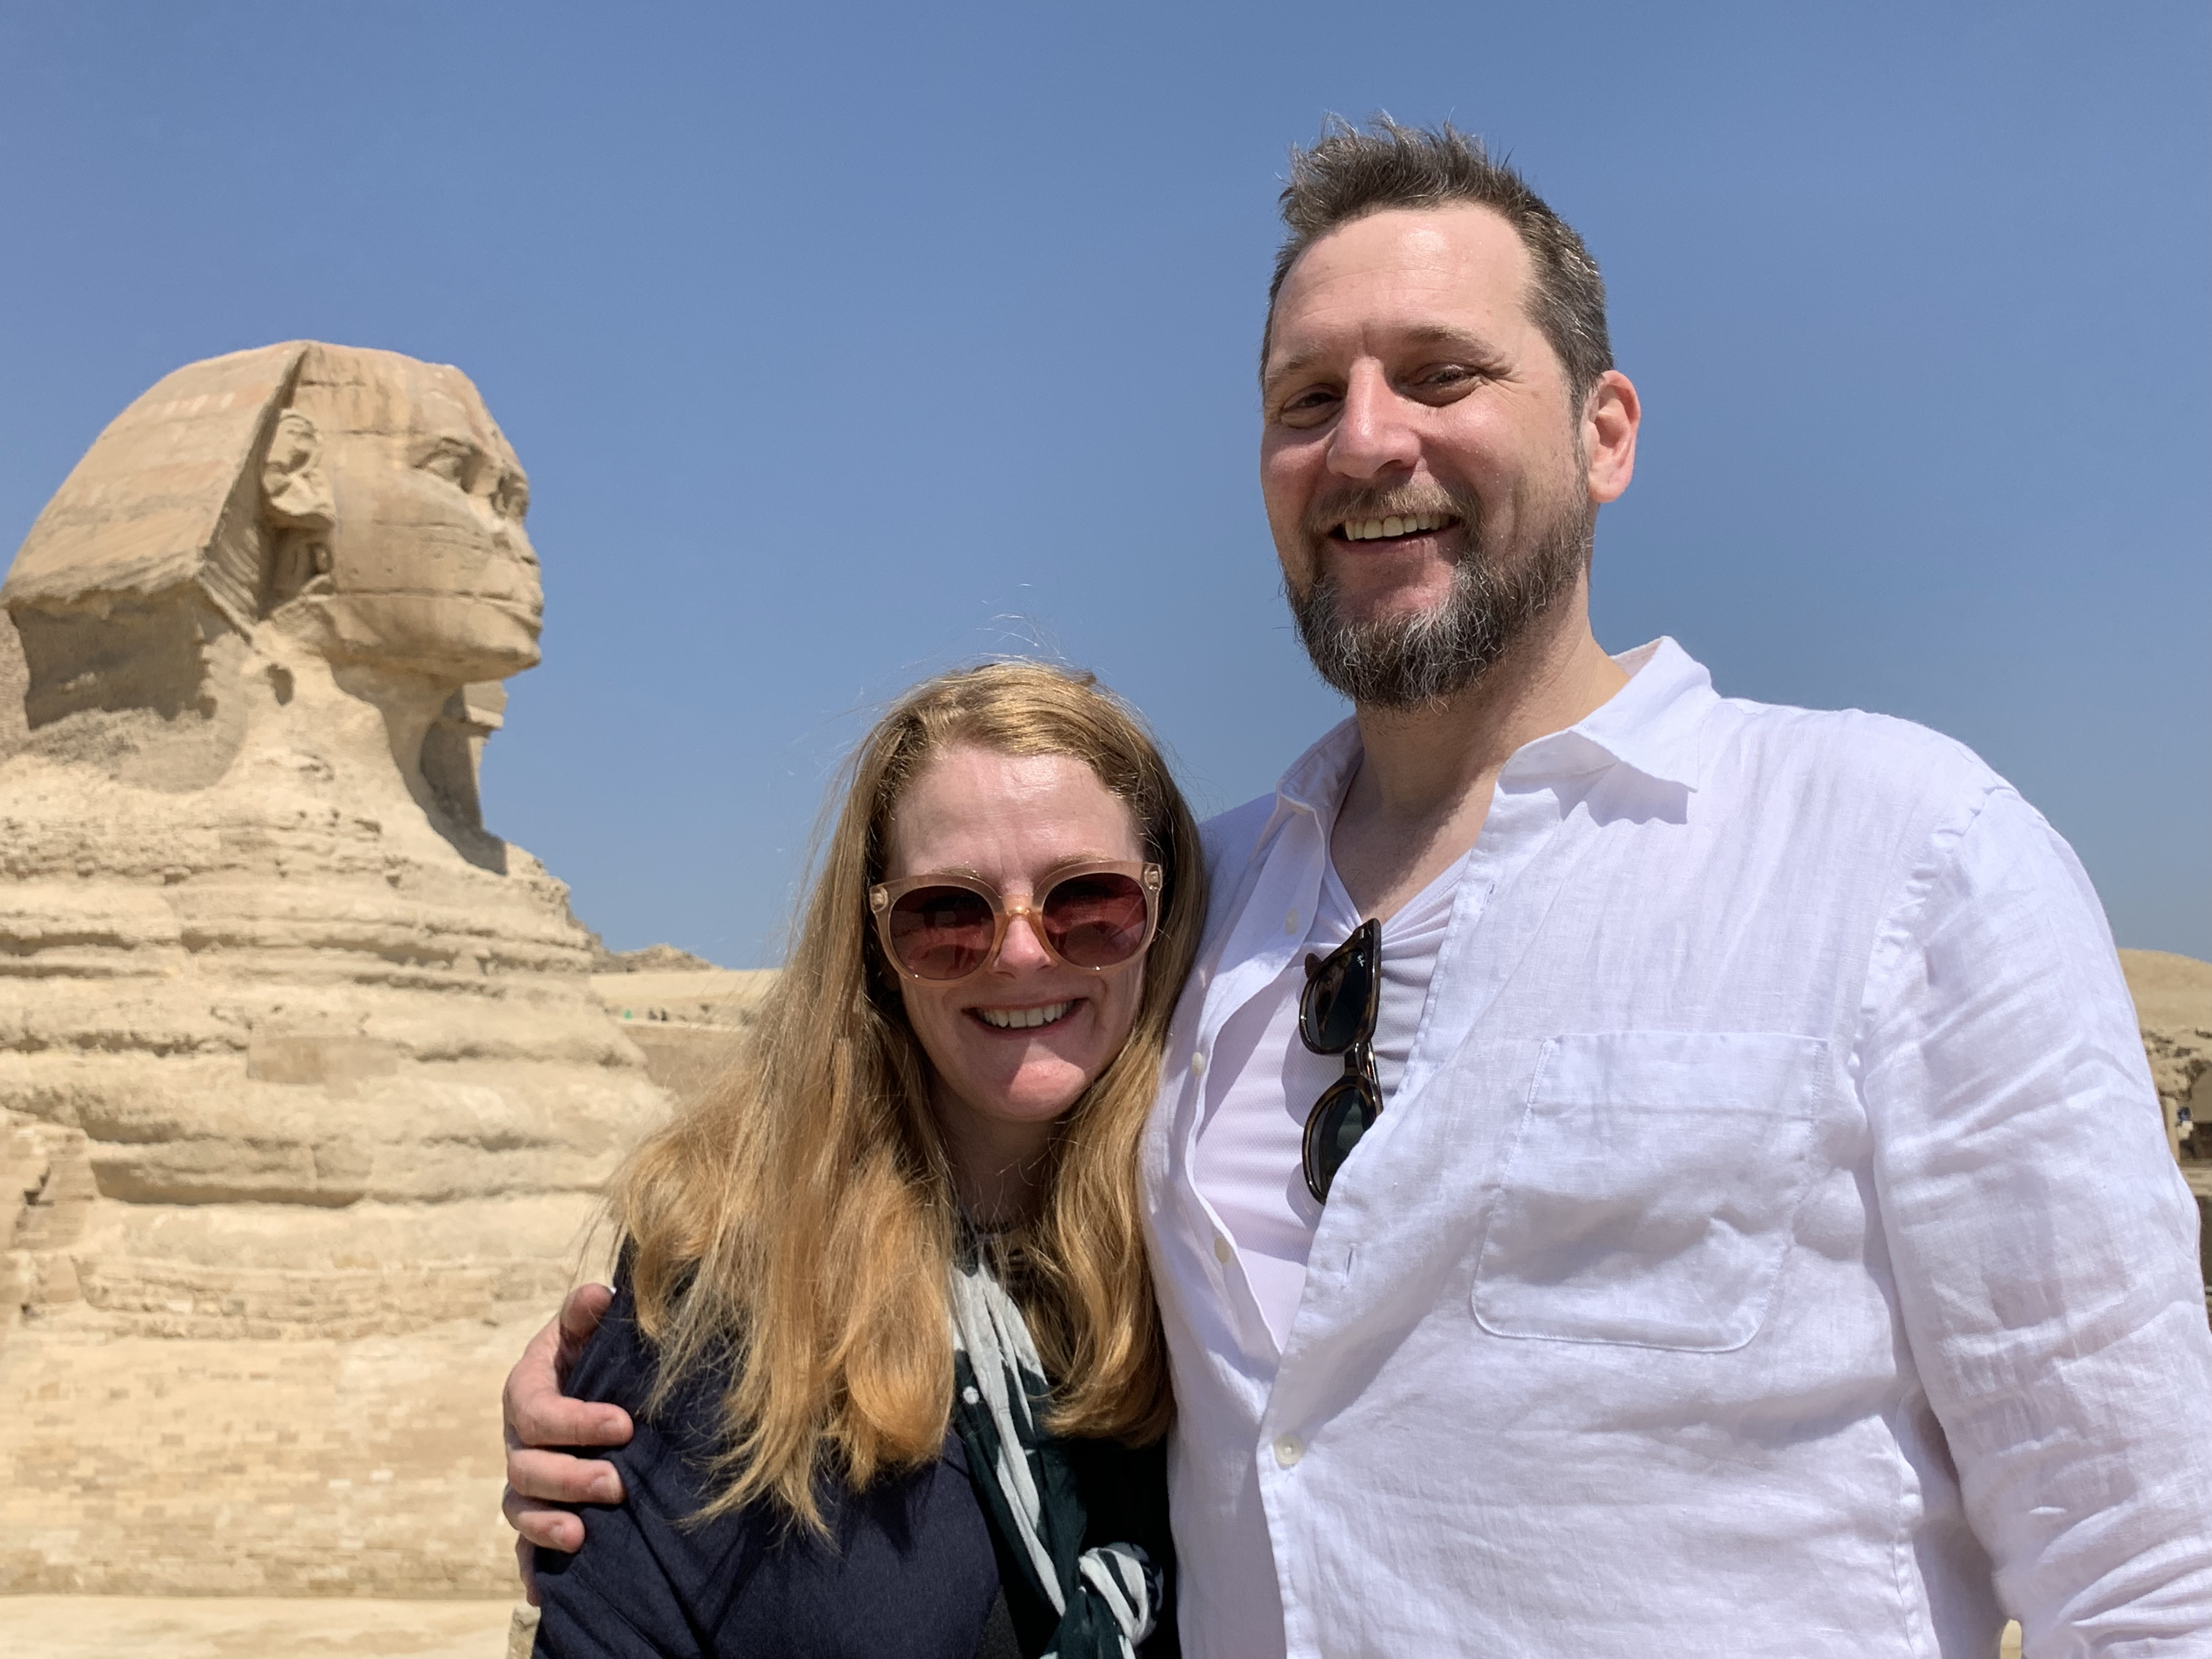
<path fill-rule="evenodd" d="M 9 1659 L 500 1659 L 511 1601 L 4 1595 Z"/>

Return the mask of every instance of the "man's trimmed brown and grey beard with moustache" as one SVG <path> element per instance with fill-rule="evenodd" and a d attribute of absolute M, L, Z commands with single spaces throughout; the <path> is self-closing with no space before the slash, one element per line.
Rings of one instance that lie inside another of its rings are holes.
<path fill-rule="evenodd" d="M 1327 518 L 1383 518 L 1360 502 L 1329 507 Z M 1407 511 L 1429 511 L 1429 504 Z M 1285 582 L 1290 615 L 1314 672 L 1360 708 L 1422 708 L 1473 686 L 1582 580 L 1590 566 L 1597 509 L 1573 502 L 1517 549 L 1484 535 L 1480 507 L 1453 500 L 1467 526 L 1467 551 L 1451 566 L 1451 595 L 1431 611 L 1352 622 L 1343 588 L 1323 560 L 1305 593 Z M 1316 533 L 1318 540 L 1318 533 Z M 1356 555 L 1354 555 L 1356 557 Z"/>

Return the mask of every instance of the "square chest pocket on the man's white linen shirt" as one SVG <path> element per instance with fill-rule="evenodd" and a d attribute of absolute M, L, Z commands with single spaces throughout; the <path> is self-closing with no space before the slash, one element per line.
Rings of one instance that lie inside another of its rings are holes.
<path fill-rule="evenodd" d="M 1825 1055 L 1767 1031 L 1546 1042 L 1475 1256 L 1482 1329 L 1750 1343 L 1809 1179 Z"/>

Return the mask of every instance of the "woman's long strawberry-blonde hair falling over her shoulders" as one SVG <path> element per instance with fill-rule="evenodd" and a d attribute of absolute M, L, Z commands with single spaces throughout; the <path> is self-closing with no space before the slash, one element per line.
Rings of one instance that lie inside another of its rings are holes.
<path fill-rule="evenodd" d="M 891 810 L 949 745 L 1079 759 L 1161 865 L 1137 1022 L 1060 1121 L 1013 1283 L 1057 1380 L 1055 1431 L 1146 1442 L 1172 1413 L 1137 1139 L 1206 918 L 1199 830 L 1144 726 L 1091 675 L 987 664 L 916 686 L 860 743 L 743 1062 L 615 1186 L 639 1325 L 659 1347 L 655 1402 L 701 1367 L 728 1378 L 708 1513 L 770 1498 L 821 1528 L 818 1480 L 860 1489 L 945 1442 L 958 1203 L 867 889 L 885 876 Z"/>

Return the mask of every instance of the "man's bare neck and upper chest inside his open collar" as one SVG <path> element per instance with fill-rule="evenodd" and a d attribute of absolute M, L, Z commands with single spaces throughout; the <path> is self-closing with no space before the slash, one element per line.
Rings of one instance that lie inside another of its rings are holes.
<path fill-rule="evenodd" d="M 1577 588 L 1458 697 L 1358 708 L 1360 765 L 1329 836 L 1363 916 L 1389 918 L 1475 845 L 1513 752 L 1604 708 L 1628 684 Z"/>

